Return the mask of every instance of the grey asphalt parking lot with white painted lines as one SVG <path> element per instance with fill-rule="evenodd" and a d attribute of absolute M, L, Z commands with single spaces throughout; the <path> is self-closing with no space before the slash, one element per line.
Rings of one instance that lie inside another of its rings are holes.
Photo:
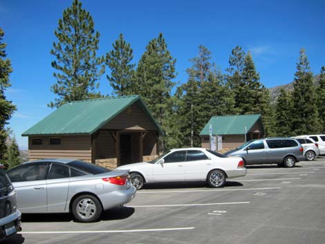
<path fill-rule="evenodd" d="M 67 214 L 23 215 L 23 231 L 1 244 L 325 243 L 325 157 L 248 167 L 222 189 L 201 183 L 149 185 L 97 223 Z"/>

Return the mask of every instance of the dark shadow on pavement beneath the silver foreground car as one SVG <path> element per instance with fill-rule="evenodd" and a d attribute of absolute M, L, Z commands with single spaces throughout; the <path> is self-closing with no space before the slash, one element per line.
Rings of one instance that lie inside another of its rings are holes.
<path fill-rule="evenodd" d="M 129 218 L 134 213 L 133 207 L 114 207 L 113 209 L 106 210 L 102 216 L 97 220 L 120 220 Z M 33 222 L 70 222 L 75 221 L 72 214 L 23 214 L 21 216 L 22 223 Z M 2 244 L 2 243 L 1 243 Z"/>

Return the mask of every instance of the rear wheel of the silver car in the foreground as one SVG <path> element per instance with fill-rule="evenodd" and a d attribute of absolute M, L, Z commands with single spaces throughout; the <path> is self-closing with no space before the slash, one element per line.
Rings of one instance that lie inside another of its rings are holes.
<path fill-rule="evenodd" d="M 95 196 L 78 196 L 73 201 L 72 213 L 79 222 L 94 222 L 102 214 L 102 205 L 100 204 L 100 200 L 95 198 Z"/>

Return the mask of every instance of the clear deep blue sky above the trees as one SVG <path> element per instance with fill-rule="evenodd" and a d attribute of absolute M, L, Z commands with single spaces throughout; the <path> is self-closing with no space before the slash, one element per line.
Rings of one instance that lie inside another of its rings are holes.
<path fill-rule="evenodd" d="M 55 95 L 50 55 L 54 30 L 72 0 L 0 0 L 0 27 L 14 72 L 8 99 L 18 110 L 10 120 L 19 143 L 21 133 L 51 113 L 46 106 Z M 177 59 L 175 81 L 186 82 L 189 58 L 204 45 L 225 71 L 234 46 L 250 50 L 261 82 L 266 87 L 293 81 L 299 49 L 305 48 L 314 73 L 325 65 L 325 1 L 95 1 L 83 0 L 101 34 L 99 55 L 111 50 L 122 32 L 138 62 L 147 43 L 163 33 Z M 106 70 L 106 73 L 108 70 Z M 102 94 L 111 94 L 106 74 L 100 79 Z"/>

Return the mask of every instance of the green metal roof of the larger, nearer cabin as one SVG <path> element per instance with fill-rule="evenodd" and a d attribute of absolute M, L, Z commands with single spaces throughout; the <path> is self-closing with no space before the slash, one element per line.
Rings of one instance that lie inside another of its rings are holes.
<path fill-rule="evenodd" d="M 163 134 L 163 129 L 154 120 L 140 96 L 131 95 L 69 102 L 22 135 L 92 134 L 134 103 L 156 125 L 158 132 Z"/>

